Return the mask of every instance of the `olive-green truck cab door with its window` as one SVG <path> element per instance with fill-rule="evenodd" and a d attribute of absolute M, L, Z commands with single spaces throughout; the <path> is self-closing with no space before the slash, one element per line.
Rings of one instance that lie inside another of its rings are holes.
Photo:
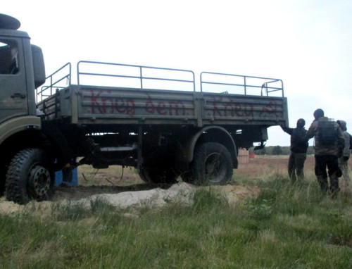
<path fill-rule="evenodd" d="M 0 38 L 0 123 L 28 114 L 22 43 Z"/>

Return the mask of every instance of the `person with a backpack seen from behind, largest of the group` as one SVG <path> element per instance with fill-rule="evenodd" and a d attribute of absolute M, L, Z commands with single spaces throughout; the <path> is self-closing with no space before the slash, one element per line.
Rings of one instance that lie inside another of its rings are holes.
<path fill-rule="evenodd" d="M 307 138 L 314 137 L 315 175 L 322 192 L 336 198 L 341 176 L 338 156 L 344 148 L 344 135 L 337 122 L 325 117 L 321 108 L 315 110 L 313 115 L 315 120 L 308 128 Z"/>

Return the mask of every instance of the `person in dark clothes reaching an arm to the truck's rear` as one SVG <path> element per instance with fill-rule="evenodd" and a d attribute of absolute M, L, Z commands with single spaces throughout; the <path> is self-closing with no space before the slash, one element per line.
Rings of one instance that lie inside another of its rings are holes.
<path fill-rule="evenodd" d="M 289 156 L 289 178 L 292 183 L 302 181 L 304 178 L 304 162 L 307 158 L 308 139 L 306 137 L 307 130 L 304 128 L 306 121 L 303 118 L 297 120 L 296 128 L 281 126 L 284 132 L 291 135 L 291 154 Z"/>

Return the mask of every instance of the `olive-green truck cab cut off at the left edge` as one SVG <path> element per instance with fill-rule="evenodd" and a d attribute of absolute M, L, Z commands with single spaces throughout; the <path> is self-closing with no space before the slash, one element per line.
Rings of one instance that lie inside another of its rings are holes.
<path fill-rule="evenodd" d="M 42 50 L 18 27 L 18 20 L 0 15 L 0 193 L 11 159 L 38 145 L 42 126 L 35 104 L 35 88 L 45 82 Z"/>

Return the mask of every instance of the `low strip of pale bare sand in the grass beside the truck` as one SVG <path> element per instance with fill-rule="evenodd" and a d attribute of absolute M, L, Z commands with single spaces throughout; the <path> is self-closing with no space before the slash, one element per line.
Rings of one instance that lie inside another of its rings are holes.
<path fill-rule="evenodd" d="M 108 204 L 118 209 L 139 208 L 142 206 L 149 208 L 160 207 L 170 202 L 188 205 L 193 202 L 194 192 L 197 188 L 199 187 L 185 182 L 173 184 L 168 189 L 156 188 L 140 191 L 122 191 L 118 193 L 105 193 L 106 189 L 97 187 L 86 187 L 83 191 L 80 187 L 71 187 L 67 189 L 68 192 L 66 195 L 63 195 L 63 190 L 59 191 L 56 196 L 53 197 L 53 201 L 32 201 L 25 206 L 15 204 L 12 201 L 6 201 L 5 197 L 1 197 L 0 213 L 18 213 L 26 210 L 35 210 L 45 213 L 51 210 L 51 206 L 54 203 L 68 204 L 69 201 L 70 204 L 82 204 L 83 206 L 89 207 L 90 201 L 95 199 L 106 201 Z M 245 185 L 229 184 L 204 188 L 225 196 L 230 206 L 245 201 L 248 198 L 255 198 L 260 193 L 257 187 Z M 90 192 L 89 189 L 91 190 Z M 99 193 L 99 191 L 101 193 Z"/>

